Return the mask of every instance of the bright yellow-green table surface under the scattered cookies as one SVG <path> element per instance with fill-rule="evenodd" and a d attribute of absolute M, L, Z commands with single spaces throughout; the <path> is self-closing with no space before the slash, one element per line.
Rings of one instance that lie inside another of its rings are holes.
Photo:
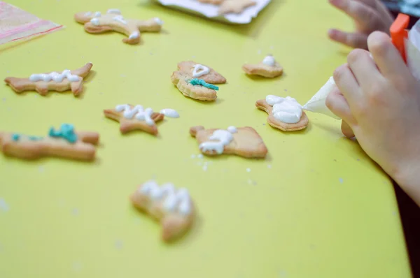
<path fill-rule="evenodd" d="M 310 3 L 309 3 L 310 2 Z M 315 3 L 317 2 L 317 3 Z M 398 206 L 388 177 L 346 140 L 339 122 L 308 113 L 302 132 L 266 124 L 255 101 L 267 94 L 305 103 L 343 64 L 349 49 L 329 27 L 351 21 L 327 1 L 274 0 L 252 24 L 230 26 L 145 0 L 13 0 L 66 26 L 0 52 L 0 76 L 94 64 L 85 93 L 18 95 L 0 87 L 0 129 L 44 136 L 68 122 L 98 131 L 94 163 L 0 156 L 0 277 L 410 277 Z M 92 35 L 73 21 L 84 10 L 120 8 L 126 18 L 161 17 L 141 45 L 117 33 Z M 247 78 L 244 62 L 272 53 L 282 78 Z M 215 103 L 193 101 L 169 76 L 193 59 L 225 75 Z M 160 136 L 122 136 L 102 110 L 120 103 L 174 108 Z M 269 155 L 198 159 L 190 126 L 253 126 Z M 207 163 L 207 164 L 205 164 Z M 207 170 L 203 166 L 207 165 Z M 174 244 L 128 197 L 155 178 L 189 189 L 199 217 Z"/>

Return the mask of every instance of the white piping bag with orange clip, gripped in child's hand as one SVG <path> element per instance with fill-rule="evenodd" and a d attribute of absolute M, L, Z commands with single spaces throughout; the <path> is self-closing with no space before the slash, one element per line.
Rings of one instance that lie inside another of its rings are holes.
<path fill-rule="evenodd" d="M 407 31 L 408 24 L 409 16 L 400 13 L 391 25 L 390 33 L 392 43 L 398 49 L 398 52 L 400 52 L 402 59 L 404 59 L 414 78 L 420 80 L 420 20 L 414 24 L 414 27 L 410 31 Z M 330 77 L 325 85 L 303 105 L 303 109 L 327 115 L 334 119 L 340 119 L 325 105 L 328 94 L 335 87 L 334 78 Z"/>

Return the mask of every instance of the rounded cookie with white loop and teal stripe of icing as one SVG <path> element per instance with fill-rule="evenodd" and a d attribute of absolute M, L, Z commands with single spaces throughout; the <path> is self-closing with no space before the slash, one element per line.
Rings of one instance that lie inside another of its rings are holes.
<path fill-rule="evenodd" d="M 184 96 L 199 101 L 216 100 L 216 91 L 219 88 L 214 84 L 226 82 L 226 78 L 214 71 L 213 68 L 197 64 L 194 61 L 182 61 L 179 63 L 178 71 L 172 73 L 171 80 Z"/>

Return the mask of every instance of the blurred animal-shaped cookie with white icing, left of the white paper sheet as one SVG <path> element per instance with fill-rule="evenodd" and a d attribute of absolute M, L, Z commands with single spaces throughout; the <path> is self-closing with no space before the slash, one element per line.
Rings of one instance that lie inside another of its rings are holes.
<path fill-rule="evenodd" d="M 140 43 L 142 31 L 159 32 L 163 22 L 155 17 L 150 20 L 128 20 L 121 15 L 120 10 L 111 9 L 105 14 L 100 12 L 82 12 L 74 15 L 76 22 L 85 24 L 85 31 L 91 34 L 117 31 L 128 36 L 123 42 L 131 45 Z"/>

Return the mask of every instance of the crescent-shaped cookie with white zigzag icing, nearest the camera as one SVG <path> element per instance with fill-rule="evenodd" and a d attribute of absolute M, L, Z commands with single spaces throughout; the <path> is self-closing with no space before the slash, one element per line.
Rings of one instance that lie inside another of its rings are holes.
<path fill-rule="evenodd" d="M 195 218 L 195 205 L 188 190 L 176 190 L 173 184 L 145 182 L 132 194 L 131 201 L 137 209 L 160 221 L 165 242 L 185 234 Z"/>

